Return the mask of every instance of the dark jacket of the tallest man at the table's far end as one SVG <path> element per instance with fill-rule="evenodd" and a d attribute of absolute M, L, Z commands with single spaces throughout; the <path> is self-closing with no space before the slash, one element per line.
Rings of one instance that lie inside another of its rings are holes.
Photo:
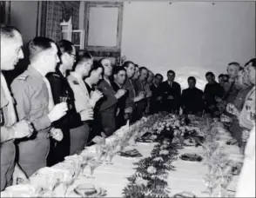
<path fill-rule="evenodd" d="M 163 82 L 159 87 L 160 96 L 162 96 L 162 110 L 179 113 L 181 88 L 178 82 L 172 82 L 172 87 L 168 81 Z M 168 99 L 173 96 L 173 99 Z"/>

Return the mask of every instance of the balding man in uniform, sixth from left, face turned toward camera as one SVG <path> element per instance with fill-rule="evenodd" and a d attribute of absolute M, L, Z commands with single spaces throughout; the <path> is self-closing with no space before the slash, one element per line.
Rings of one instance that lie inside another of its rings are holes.
<path fill-rule="evenodd" d="M 103 58 L 99 61 L 104 67 L 104 77 L 98 83 L 98 90 L 100 90 L 104 97 L 99 101 L 99 114 L 104 133 L 107 136 L 112 135 L 116 129 L 115 113 L 118 99 L 125 95 L 125 89 L 118 89 L 116 93 L 111 86 L 110 76 L 112 75 L 111 60 Z"/>

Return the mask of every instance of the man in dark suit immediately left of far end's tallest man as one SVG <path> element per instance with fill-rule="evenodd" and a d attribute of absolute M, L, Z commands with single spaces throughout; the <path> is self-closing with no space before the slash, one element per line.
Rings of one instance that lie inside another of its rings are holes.
<path fill-rule="evenodd" d="M 154 82 L 150 86 L 152 97 L 150 98 L 150 114 L 156 114 L 160 110 L 161 101 L 159 97 L 159 85 L 163 82 L 164 77 L 160 74 L 154 76 Z"/>

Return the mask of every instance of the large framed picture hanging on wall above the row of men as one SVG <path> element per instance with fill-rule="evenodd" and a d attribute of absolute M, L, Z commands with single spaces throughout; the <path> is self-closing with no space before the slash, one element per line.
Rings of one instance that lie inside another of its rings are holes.
<path fill-rule="evenodd" d="M 85 2 L 85 49 L 120 51 L 123 3 Z"/>

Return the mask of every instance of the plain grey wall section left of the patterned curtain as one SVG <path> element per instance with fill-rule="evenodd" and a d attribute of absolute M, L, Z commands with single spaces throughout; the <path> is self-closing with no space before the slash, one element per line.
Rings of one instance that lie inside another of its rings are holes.
<path fill-rule="evenodd" d="M 22 33 L 24 43 L 37 36 L 37 1 L 11 2 L 10 24 Z"/>

